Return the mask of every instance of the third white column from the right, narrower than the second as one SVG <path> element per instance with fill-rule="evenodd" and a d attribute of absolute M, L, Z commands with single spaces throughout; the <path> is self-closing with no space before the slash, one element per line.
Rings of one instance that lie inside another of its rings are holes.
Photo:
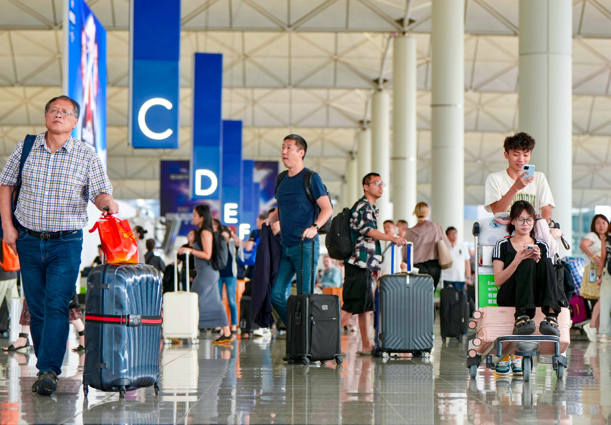
<path fill-rule="evenodd" d="M 395 220 L 414 226 L 416 204 L 416 39 L 398 36 L 393 47 L 392 203 Z"/>

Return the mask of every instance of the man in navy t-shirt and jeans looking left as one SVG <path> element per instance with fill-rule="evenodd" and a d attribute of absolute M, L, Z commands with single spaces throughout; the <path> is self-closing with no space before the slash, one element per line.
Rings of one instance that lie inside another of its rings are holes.
<path fill-rule="evenodd" d="M 271 303 L 278 315 L 287 323 L 287 288 L 298 273 L 297 284 L 301 282 L 301 238 L 304 238 L 303 256 L 303 282 L 301 293 L 310 293 L 310 280 L 312 279 L 312 255 L 314 268 L 318 265 L 320 245 L 318 243 L 318 229 L 331 218 L 333 207 L 323 186 L 323 180 L 318 174 L 312 176 L 312 195 L 320 208 L 315 210 L 312 202 L 305 194 L 304 177 L 308 171 L 304 166 L 307 142 L 298 135 L 288 135 L 282 142 L 282 163 L 288 168 L 276 189 L 278 208 L 265 220 L 266 224 L 280 220 L 282 232 L 282 257 L 276 283 L 272 289 Z M 314 246 L 312 252 L 312 238 Z"/>

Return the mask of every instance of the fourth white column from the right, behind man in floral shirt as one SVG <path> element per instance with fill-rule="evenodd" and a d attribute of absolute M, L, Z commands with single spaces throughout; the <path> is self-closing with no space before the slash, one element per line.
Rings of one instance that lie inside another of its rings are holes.
<path fill-rule="evenodd" d="M 389 97 L 385 91 L 375 92 L 371 97 L 371 171 L 377 172 L 387 185 L 390 183 L 390 115 Z M 392 220 L 388 187 L 376 207 L 379 209 L 378 229 L 384 220 Z"/>

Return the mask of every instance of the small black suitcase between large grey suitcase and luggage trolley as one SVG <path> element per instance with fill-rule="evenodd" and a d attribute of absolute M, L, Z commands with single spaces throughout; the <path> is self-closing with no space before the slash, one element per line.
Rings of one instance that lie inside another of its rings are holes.
<path fill-rule="evenodd" d="M 441 290 L 439 316 L 442 338 L 461 338 L 467 333 L 469 302 L 463 290 L 452 288 Z"/>

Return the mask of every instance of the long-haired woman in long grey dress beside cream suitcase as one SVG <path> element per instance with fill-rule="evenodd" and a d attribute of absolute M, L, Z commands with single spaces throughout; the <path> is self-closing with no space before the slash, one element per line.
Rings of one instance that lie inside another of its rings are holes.
<path fill-rule="evenodd" d="M 223 344 L 233 341 L 229 329 L 227 312 L 219 294 L 219 272 L 214 270 L 210 263 L 212 257 L 212 215 L 208 205 L 197 205 L 193 209 L 193 224 L 197 229 L 196 240 L 192 248 L 181 247 L 178 254 L 189 254 L 195 257 L 197 275 L 191 284 L 191 290 L 197 292 L 199 297 L 199 328 L 222 327 L 223 333 L 214 344 Z"/>

